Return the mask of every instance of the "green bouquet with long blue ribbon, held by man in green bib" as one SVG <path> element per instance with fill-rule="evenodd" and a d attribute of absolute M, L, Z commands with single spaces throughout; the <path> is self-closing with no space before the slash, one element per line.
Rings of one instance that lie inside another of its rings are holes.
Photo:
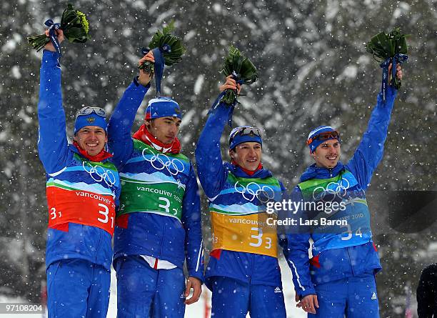
<path fill-rule="evenodd" d="M 171 66 L 182 61 L 182 55 L 186 48 L 182 40 L 178 36 L 171 35 L 170 32 L 174 30 L 174 21 L 168 26 L 165 26 L 161 31 L 156 31 L 152 37 L 149 47 L 142 49 L 143 54 L 152 51 L 155 62 L 145 61 L 139 65 L 139 69 L 143 69 L 146 73 L 156 74 L 156 96 L 161 96 L 161 79 L 164 72 L 164 65 Z"/>

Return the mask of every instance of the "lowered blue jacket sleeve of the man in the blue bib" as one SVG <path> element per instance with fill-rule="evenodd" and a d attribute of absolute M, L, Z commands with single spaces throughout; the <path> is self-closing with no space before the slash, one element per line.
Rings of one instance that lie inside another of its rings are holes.
<path fill-rule="evenodd" d="M 301 189 L 295 187 L 291 193 L 292 202 L 301 202 Z M 299 209 L 293 219 L 306 219 L 305 212 Z M 299 224 L 299 223 L 298 223 Z M 298 230 L 297 230 L 298 229 Z M 298 226 L 291 227 L 288 233 L 281 236 L 279 240 L 283 247 L 283 254 L 286 257 L 288 266 L 293 274 L 293 284 L 296 293 L 300 297 L 305 297 L 308 294 L 316 294 L 311 282 L 310 264 L 308 257 L 308 249 L 310 247 L 309 239 L 311 237 L 309 227 Z"/>

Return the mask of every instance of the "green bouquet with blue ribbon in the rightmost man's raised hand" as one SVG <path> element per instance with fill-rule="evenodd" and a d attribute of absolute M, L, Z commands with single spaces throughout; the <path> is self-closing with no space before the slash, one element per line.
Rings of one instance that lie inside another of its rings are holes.
<path fill-rule="evenodd" d="M 406 35 L 401 34 L 401 29 L 395 28 L 389 34 L 383 31 L 376 34 L 366 44 L 366 51 L 373 54 L 373 59 L 381 63 L 383 68 L 382 91 L 383 101 L 386 101 L 388 85 L 388 66 L 392 63 L 391 85 L 396 89 L 401 87 L 401 79 L 396 76 L 396 64 L 402 64 L 408 59 L 408 46 Z"/>

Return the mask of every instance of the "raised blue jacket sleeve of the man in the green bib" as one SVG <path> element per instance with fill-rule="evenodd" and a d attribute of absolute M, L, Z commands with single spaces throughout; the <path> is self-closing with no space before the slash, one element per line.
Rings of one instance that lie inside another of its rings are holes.
<path fill-rule="evenodd" d="M 124 91 L 108 124 L 108 146 L 114 155 L 112 162 L 120 169 L 134 149 L 131 139 L 131 129 L 134 124 L 136 111 L 143 101 L 150 84 L 146 87 L 134 80 Z"/>

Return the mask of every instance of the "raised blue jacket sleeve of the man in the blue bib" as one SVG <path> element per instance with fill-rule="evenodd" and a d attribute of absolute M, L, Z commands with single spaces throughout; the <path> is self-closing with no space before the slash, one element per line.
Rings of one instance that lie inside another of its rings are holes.
<path fill-rule="evenodd" d="M 363 190 L 367 189 L 373 172 L 383 157 L 384 142 L 396 93 L 393 86 L 388 86 L 386 104 L 383 103 L 382 92 L 378 94 L 376 106 L 368 121 L 367 131 L 363 134 L 352 159 L 346 164 L 346 169 L 357 178 Z"/>

